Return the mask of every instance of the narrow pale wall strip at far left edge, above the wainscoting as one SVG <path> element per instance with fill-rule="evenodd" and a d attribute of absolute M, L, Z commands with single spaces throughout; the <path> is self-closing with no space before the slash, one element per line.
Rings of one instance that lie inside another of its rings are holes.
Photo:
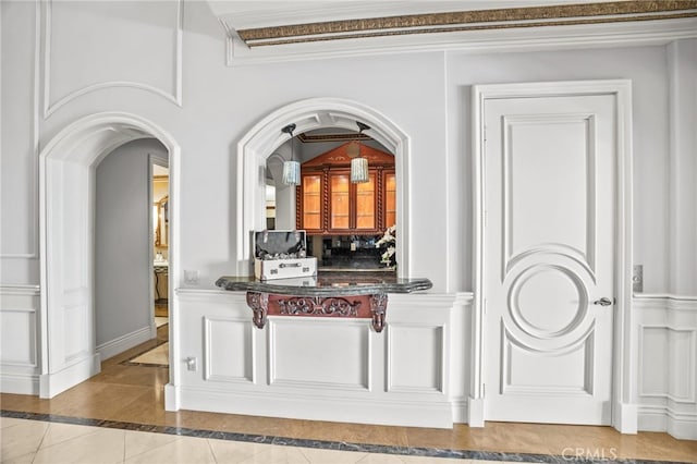
<path fill-rule="evenodd" d="M 0 105 L 0 281 L 37 284 L 38 261 L 38 127 L 34 85 L 34 4 L 2 2 Z M 9 72 L 9 70 L 13 70 Z"/>

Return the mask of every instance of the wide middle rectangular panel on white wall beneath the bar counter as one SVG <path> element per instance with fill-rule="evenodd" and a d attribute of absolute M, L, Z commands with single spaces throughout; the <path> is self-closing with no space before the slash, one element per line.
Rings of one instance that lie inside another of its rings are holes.
<path fill-rule="evenodd" d="M 366 319 L 271 317 L 269 381 L 310 390 L 368 390 L 370 322 Z"/>

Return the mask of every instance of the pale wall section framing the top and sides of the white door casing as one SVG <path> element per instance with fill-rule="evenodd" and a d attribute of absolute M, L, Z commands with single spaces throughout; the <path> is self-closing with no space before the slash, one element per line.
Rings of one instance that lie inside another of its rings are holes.
<path fill-rule="evenodd" d="M 469 93 L 473 84 L 629 78 L 634 106 L 634 261 L 644 265 L 646 292 L 668 290 L 668 70 L 664 47 L 555 52 L 464 54 L 449 53 L 449 141 L 455 152 L 470 152 Z M 457 105 L 460 102 L 460 105 Z M 452 157 L 470 179 L 470 156 Z M 457 196 L 468 198 L 465 182 Z M 456 207 L 456 205 L 455 205 Z M 453 211 L 454 213 L 455 211 Z M 464 216 L 462 229 L 472 230 Z M 465 240 L 469 242 L 469 236 Z M 467 249 L 468 252 L 468 249 Z M 470 260 L 466 254 L 463 259 Z M 467 270 L 465 280 L 470 281 Z"/>

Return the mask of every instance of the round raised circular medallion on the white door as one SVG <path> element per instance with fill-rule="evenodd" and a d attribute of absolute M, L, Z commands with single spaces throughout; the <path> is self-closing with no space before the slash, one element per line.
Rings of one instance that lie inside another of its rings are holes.
<path fill-rule="evenodd" d="M 528 334 L 550 339 L 574 330 L 588 312 L 588 292 L 570 269 L 536 265 L 522 271 L 511 284 L 509 310 Z"/>

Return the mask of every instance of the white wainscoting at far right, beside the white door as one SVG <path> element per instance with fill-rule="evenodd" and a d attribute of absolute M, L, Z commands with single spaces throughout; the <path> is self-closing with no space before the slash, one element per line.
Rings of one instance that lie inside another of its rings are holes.
<path fill-rule="evenodd" d="M 638 427 L 697 440 L 697 297 L 636 295 Z"/>

